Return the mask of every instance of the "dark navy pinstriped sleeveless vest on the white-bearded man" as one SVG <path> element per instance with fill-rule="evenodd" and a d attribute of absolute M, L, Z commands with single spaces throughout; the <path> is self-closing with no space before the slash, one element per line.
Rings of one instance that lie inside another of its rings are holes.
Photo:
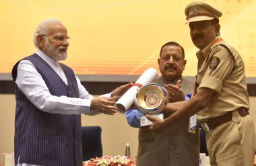
<path fill-rule="evenodd" d="M 79 97 L 72 69 L 60 63 L 67 77 L 66 85 L 37 54 L 24 59 L 30 60 L 36 67 L 51 95 Z M 20 61 L 13 67 L 13 81 L 16 79 L 19 63 Z M 16 84 L 15 97 L 15 165 L 19 156 L 20 163 L 47 166 L 82 165 L 81 116 L 42 112 L 28 100 Z"/>

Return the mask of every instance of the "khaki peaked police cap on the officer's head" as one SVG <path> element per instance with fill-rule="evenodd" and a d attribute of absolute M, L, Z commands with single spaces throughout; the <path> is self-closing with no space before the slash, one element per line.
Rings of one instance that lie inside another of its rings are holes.
<path fill-rule="evenodd" d="M 222 12 L 207 3 L 193 2 L 187 5 L 185 15 L 187 16 L 187 23 L 189 23 L 212 20 L 214 18 L 219 19 L 222 16 Z"/>

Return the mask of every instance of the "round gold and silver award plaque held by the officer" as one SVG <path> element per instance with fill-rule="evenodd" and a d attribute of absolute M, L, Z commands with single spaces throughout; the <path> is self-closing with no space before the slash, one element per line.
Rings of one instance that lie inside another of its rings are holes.
<path fill-rule="evenodd" d="M 134 97 L 135 108 L 142 114 L 157 116 L 163 120 L 164 116 L 160 114 L 160 110 L 168 103 L 167 94 L 166 89 L 157 83 L 145 85 L 137 91 Z M 141 127 L 150 126 L 151 124 L 152 122 L 146 116 L 141 116 Z"/>

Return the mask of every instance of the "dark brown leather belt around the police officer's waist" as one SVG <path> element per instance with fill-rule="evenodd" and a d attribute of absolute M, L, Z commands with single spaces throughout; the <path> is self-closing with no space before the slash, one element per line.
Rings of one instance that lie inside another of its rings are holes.
<path fill-rule="evenodd" d="M 236 111 L 242 117 L 249 115 L 249 110 L 246 108 L 238 108 Z M 221 124 L 229 122 L 231 120 L 232 120 L 232 112 L 227 112 L 226 114 L 224 114 L 222 116 L 210 118 L 210 119 L 206 120 L 205 122 L 202 122 L 201 128 L 203 129 L 203 131 L 205 133 L 210 132 L 210 131 L 214 130 L 214 128 L 220 126 Z"/>

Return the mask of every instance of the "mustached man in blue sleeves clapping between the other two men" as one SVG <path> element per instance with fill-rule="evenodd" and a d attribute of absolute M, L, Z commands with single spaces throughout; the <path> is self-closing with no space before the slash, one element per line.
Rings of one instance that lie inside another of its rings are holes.
<path fill-rule="evenodd" d="M 168 90 L 169 102 L 187 100 L 185 94 L 193 91 L 194 84 L 182 77 L 186 63 L 184 49 L 177 42 L 168 42 L 162 46 L 158 58 L 162 76 L 153 83 L 163 85 Z M 139 117 L 143 114 L 137 110 L 129 110 L 126 116 L 131 126 L 138 127 Z M 188 119 L 160 133 L 154 133 L 148 128 L 139 128 L 137 165 L 198 166 L 199 130 L 192 133 L 188 128 Z"/>

